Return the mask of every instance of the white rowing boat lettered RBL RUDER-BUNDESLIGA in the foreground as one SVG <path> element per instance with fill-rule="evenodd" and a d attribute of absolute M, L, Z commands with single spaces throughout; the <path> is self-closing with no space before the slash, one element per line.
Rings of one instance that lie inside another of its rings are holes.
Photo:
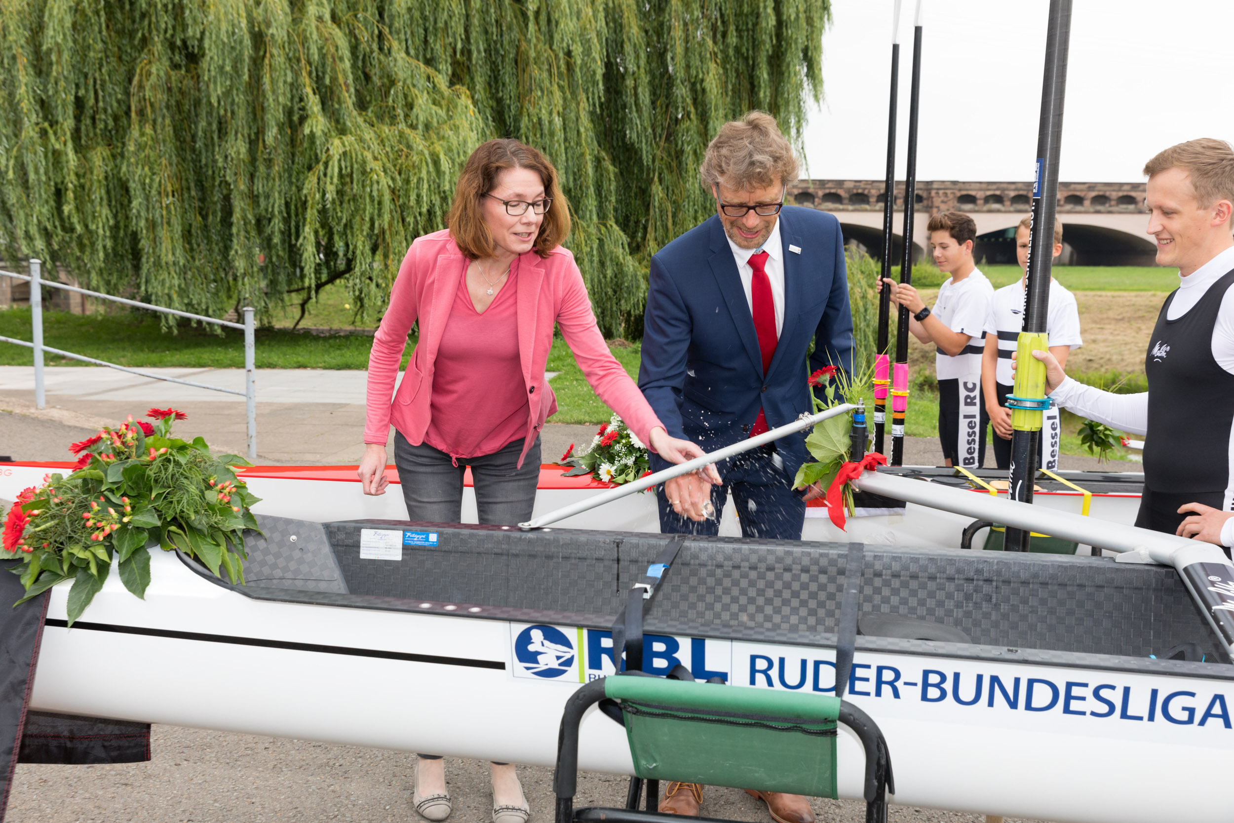
<path fill-rule="evenodd" d="M 6 465 L 0 496 L 51 468 Z M 664 545 L 647 533 L 654 503 L 580 516 L 643 533 L 431 527 L 400 522 L 397 489 L 360 496 L 348 471 L 247 473 L 268 536 L 248 547 L 247 586 L 154 552 L 144 601 L 112 576 L 73 629 L 67 587 L 53 589 L 32 708 L 552 764 L 565 700 L 613 670 L 613 617 Z M 539 506 L 592 485 L 555 482 Z M 1183 788 L 1219 785 L 1234 763 L 1234 666 L 1174 569 L 874 542 L 859 556 L 845 698 L 886 734 L 896 802 L 1229 818 L 1222 792 Z M 853 558 L 835 543 L 689 543 L 652 601 L 644 669 L 830 692 Z M 1162 659 L 1171 650 L 1208 661 Z M 101 686 L 81 689 L 88 676 Z M 840 795 L 859 797 L 861 749 L 840 746 Z M 621 728 L 589 717 L 580 763 L 628 774 Z M 1133 764 L 1165 788 L 1144 791 Z"/>

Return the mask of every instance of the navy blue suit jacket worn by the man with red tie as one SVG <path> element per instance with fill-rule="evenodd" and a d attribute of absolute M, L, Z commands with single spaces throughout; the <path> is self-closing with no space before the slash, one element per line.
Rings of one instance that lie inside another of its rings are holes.
<path fill-rule="evenodd" d="M 749 437 L 760 407 L 771 428 L 812 412 L 810 371 L 824 365 L 851 371 L 853 317 L 839 221 L 826 211 L 785 206 L 780 241 L 784 328 L 765 375 L 754 317 L 719 217 L 652 258 L 638 386 L 673 437 L 707 452 L 723 448 Z M 812 459 L 807 433 L 776 442 L 789 481 Z M 656 471 L 670 465 L 650 457 Z"/>

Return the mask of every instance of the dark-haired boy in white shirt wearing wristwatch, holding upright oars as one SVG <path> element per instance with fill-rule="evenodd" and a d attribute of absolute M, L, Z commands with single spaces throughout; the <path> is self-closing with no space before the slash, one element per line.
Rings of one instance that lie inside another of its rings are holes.
<path fill-rule="evenodd" d="M 943 464 L 980 469 L 986 459 L 986 403 L 981 391 L 981 338 L 995 290 L 972 262 L 977 225 L 959 211 L 944 211 L 926 226 L 934 263 L 951 276 L 933 308 L 917 290 L 886 278 L 891 300 L 908 310 L 908 331 L 938 354 L 938 438 Z"/>

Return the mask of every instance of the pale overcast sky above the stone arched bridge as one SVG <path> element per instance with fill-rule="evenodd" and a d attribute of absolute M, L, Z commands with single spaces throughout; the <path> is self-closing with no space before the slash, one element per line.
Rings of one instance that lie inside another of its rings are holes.
<path fill-rule="evenodd" d="M 924 0 L 919 180 L 1032 180 L 1048 0 Z M 812 178 L 882 179 L 892 0 L 832 0 Z M 908 131 L 913 9 L 901 12 L 897 178 Z M 1076 0 L 1060 178 L 1140 181 L 1160 149 L 1234 142 L 1232 0 Z"/>

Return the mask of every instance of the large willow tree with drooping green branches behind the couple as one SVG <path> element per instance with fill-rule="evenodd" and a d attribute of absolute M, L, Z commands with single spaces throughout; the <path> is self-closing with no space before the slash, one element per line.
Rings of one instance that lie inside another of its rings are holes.
<path fill-rule="evenodd" d="M 706 216 L 719 125 L 800 141 L 826 0 L 7 0 L 0 242 L 218 315 L 342 281 L 380 311 L 482 139 L 545 151 L 606 333 Z"/>

